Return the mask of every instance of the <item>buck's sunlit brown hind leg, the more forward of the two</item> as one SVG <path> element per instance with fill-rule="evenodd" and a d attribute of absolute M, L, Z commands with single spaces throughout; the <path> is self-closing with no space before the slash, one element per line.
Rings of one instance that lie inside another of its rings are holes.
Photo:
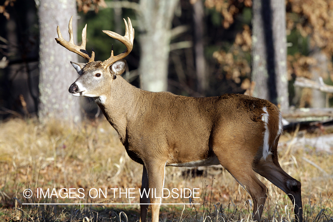
<path fill-rule="evenodd" d="M 239 147 L 237 147 L 239 148 Z M 253 219 L 260 221 L 260 217 L 267 197 L 266 186 L 256 177 L 252 169 L 253 156 L 241 149 L 242 153 L 237 152 L 240 149 L 215 149 L 220 164 L 240 183 L 250 194 L 253 200 Z M 235 151 L 236 150 L 236 151 Z"/>

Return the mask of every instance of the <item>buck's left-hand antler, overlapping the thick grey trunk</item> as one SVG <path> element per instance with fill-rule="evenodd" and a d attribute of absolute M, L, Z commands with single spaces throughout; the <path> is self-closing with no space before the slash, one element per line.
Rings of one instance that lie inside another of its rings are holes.
<path fill-rule="evenodd" d="M 82 43 L 81 43 L 81 46 L 77 46 L 77 45 L 74 44 L 72 20 L 73 20 L 73 16 L 69 20 L 69 24 L 68 24 L 69 41 L 66 41 L 62 37 L 61 32 L 60 32 L 60 28 L 58 26 L 57 27 L 57 33 L 58 33 L 58 37 L 59 38 L 56 38 L 57 43 L 59 43 L 60 45 L 62 45 L 66 49 L 68 49 L 69 51 L 74 52 L 74 53 L 82 56 L 88 62 L 94 62 L 94 59 L 95 59 L 95 53 L 94 53 L 94 51 L 92 52 L 92 56 L 91 57 L 89 56 L 88 52 L 86 51 L 87 24 L 84 27 L 84 29 L 82 30 Z"/>

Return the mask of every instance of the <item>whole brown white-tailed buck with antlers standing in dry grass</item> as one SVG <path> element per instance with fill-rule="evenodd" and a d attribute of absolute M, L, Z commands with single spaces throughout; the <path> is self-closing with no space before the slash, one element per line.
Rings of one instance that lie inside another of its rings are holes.
<path fill-rule="evenodd" d="M 133 48 L 134 29 L 125 21 L 121 36 L 103 31 L 121 41 L 127 50 L 104 62 L 94 61 L 86 51 L 86 27 L 82 44 L 73 41 L 72 18 L 69 42 L 57 28 L 57 43 L 85 58 L 72 63 L 80 77 L 70 86 L 73 96 L 92 97 L 117 130 L 128 155 L 143 164 L 141 188 L 156 188 L 161 197 L 166 166 L 221 164 L 249 192 L 253 217 L 260 220 L 267 197 L 266 186 L 256 173 L 283 190 L 295 204 L 295 217 L 302 221 L 301 183 L 289 176 L 278 162 L 277 143 L 282 133 L 281 113 L 267 100 L 244 95 L 193 98 L 168 92 L 153 93 L 135 88 L 120 75 L 123 60 Z M 157 49 L 158 50 L 158 49 Z M 159 221 L 160 198 L 141 198 L 151 205 L 152 221 Z M 140 221 L 147 219 L 149 205 L 142 204 Z"/>

